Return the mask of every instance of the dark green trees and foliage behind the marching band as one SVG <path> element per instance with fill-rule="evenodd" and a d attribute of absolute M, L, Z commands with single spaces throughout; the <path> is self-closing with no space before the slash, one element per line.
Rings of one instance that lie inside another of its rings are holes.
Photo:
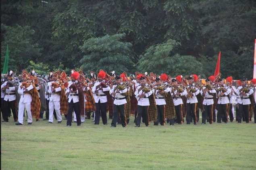
<path fill-rule="evenodd" d="M 252 0 L 3 0 L 1 63 L 68 73 L 104 69 L 252 78 Z M 33 60 L 33 63 L 29 62 Z M 1 65 L 3 66 L 3 65 Z"/>

